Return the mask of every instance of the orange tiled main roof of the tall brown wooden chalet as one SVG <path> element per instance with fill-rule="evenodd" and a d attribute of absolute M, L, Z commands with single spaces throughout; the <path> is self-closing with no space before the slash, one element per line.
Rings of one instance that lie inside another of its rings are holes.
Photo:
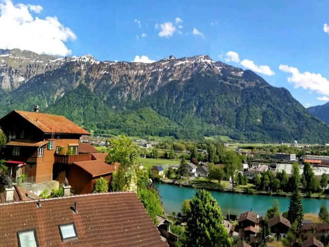
<path fill-rule="evenodd" d="M 82 134 L 89 135 L 87 131 L 77 126 L 64 116 L 51 115 L 36 112 L 14 111 L 38 127 L 45 133 L 51 133 L 54 127 L 54 133 L 62 134 Z"/>

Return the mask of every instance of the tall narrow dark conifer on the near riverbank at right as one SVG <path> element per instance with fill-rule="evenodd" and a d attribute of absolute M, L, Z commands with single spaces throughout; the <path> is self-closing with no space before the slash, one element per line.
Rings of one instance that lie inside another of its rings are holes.
<path fill-rule="evenodd" d="M 288 208 L 288 220 L 290 222 L 297 221 L 298 228 L 302 225 L 304 218 L 304 211 L 302 205 L 302 198 L 299 189 L 295 189 L 290 197 Z"/>

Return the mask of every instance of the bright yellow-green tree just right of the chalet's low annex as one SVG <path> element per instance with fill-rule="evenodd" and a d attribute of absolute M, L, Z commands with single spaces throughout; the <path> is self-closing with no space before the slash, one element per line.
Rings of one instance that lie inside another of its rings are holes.
<path fill-rule="evenodd" d="M 121 135 L 111 139 L 112 149 L 105 158 L 106 163 L 119 162 L 124 173 L 125 190 L 137 190 L 136 169 L 140 159 L 140 149 L 133 141 Z"/>

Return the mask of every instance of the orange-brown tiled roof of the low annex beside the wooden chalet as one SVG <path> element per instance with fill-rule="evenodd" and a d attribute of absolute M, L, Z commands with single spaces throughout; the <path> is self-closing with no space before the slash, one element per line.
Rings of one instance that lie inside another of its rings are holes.
<path fill-rule="evenodd" d="M 108 165 L 100 160 L 75 162 L 73 164 L 79 166 L 93 177 L 108 174 L 115 171 L 114 166 Z"/>

